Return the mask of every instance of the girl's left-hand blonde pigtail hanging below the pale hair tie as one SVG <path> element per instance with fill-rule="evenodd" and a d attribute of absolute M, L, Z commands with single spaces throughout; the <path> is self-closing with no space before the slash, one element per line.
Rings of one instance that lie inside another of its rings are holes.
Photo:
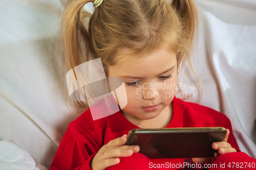
<path fill-rule="evenodd" d="M 58 40 L 61 47 L 60 51 L 62 52 L 61 56 L 68 70 L 73 69 L 74 71 L 75 66 L 89 61 L 89 35 L 83 23 L 84 18 L 91 16 L 91 13 L 83 9 L 83 6 L 89 2 L 93 1 L 69 0 L 63 11 L 58 29 Z M 77 79 L 75 71 L 74 74 L 75 79 Z M 89 107 L 87 103 L 81 101 L 74 101 L 74 103 L 80 108 Z"/>

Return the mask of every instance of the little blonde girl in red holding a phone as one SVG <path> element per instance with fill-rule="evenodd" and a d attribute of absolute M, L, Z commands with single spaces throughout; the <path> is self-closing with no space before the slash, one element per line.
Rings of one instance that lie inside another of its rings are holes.
<path fill-rule="evenodd" d="M 67 64 L 72 69 L 90 57 L 100 58 L 106 77 L 123 79 L 127 105 L 97 120 L 89 108 L 70 123 L 51 170 L 217 169 L 221 163 L 226 168 L 241 160 L 255 163 L 238 149 L 224 114 L 175 97 L 178 68 L 189 62 L 197 28 L 192 0 L 95 0 L 92 15 L 83 9 L 89 2 L 68 1 L 63 12 L 60 30 Z M 86 28 L 83 18 L 89 16 Z M 166 84 L 170 88 L 161 88 Z M 217 152 L 208 159 L 148 159 L 137 145 L 124 145 L 131 129 L 179 127 L 224 127 L 227 134 L 212 143 Z"/>

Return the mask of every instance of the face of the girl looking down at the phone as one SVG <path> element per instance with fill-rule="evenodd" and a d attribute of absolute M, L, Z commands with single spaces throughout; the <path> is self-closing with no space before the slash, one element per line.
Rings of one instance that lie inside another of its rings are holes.
<path fill-rule="evenodd" d="M 172 103 L 175 96 L 176 54 L 163 48 L 140 60 L 134 56 L 110 66 L 109 77 L 122 78 L 125 83 L 127 105 L 122 109 L 124 115 L 129 114 L 141 120 L 155 118 Z"/>

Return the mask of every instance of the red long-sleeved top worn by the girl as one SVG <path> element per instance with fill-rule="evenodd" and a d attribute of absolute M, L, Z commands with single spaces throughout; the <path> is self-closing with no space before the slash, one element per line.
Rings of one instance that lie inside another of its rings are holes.
<path fill-rule="evenodd" d="M 165 128 L 224 127 L 230 131 L 227 142 L 240 152 L 230 120 L 226 115 L 205 106 L 184 102 L 176 97 L 173 99 L 173 109 L 173 118 Z M 139 127 L 129 122 L 121 110 L 107 117 L 93 120 L 89 108 L 69 124 L 50 170 L 91 169 L 90 161 L 104 144 L 135 128 Z M 151 159 L 153 163 L 165 163 L 170 160 L 177 163 L 191 162 L 189 158 Z"/>

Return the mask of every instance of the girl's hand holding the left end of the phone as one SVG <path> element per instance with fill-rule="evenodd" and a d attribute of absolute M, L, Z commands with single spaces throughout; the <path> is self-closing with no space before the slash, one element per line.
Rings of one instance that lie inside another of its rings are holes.
<path fill-rule="evenodd" d="M 139 152 L 138 145 L 123 145 L 127 141 L 127 135 L 111 140 L 103 145 L 91 161 L 93 170 L 103 170 L 120 162 L 118 157 L 132 156 Z"/>

